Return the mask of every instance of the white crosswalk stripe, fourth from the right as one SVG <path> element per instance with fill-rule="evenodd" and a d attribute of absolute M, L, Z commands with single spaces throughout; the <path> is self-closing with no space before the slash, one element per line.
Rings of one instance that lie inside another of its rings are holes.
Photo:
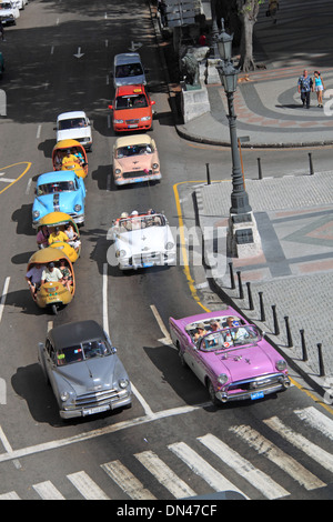
<path fill-rule="evenodd" d="M 208 433 L 204 436 L 199 436 L 198 440 L 268 499 L 279 499 L 290 494 L 289 491 L 279 485 L 271 476 L 255 468 L 215 435 Z"/>

